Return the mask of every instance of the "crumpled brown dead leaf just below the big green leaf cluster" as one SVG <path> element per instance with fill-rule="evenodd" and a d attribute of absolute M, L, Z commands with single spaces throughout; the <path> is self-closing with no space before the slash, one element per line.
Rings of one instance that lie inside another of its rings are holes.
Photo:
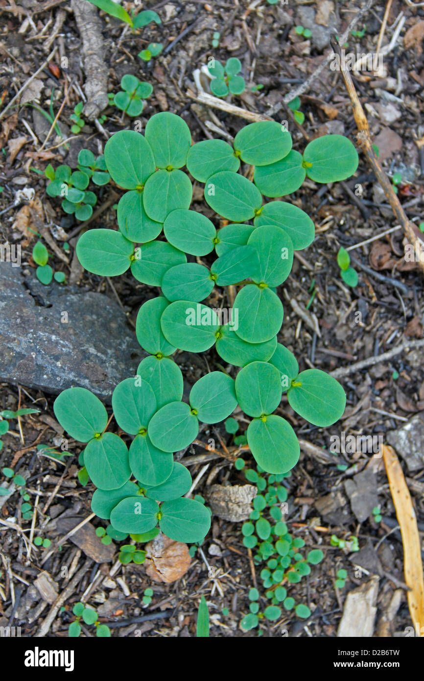
<path fill-rule="evenodd" d="M 154 582 L 171 584 L 185 575 L 191 563 L 189 547 L 180 542 L 169 539 L 165 535 L 158 535 L 146 543 L 146 573 Z"/>

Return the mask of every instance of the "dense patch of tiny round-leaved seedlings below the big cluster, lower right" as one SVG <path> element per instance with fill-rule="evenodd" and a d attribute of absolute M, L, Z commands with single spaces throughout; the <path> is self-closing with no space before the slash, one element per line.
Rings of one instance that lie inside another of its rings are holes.
<path fill-rule="evenodd" d="M 236 468 L 240 470 L 244 466 L 238 465 L 238 461 L 242 460 L 238 459 L 235 462 Z M 286 610 L 295 607 L 295 600 L 287 595 L 287 586 L 297 584 L 302 577 L 310 574 L 310 565 L 320 563 L 323 560 L 323 552 L 319 549 L 311 550 L 306 558 L 299 552 L 305 546 L 304 539 L 293 537 L 287 524 L 282 520 L 281 504 L 287 501 L 287 488 L 282 481 L 288 474 L 265 477 L 263 472 L 260 467 L 257 471 L 254 469 L 245 471 L 246 479 L 250 484 L 257 486 L 258 494 L 253 499 L 250 519 L 242 525 L 242 535 L 246 548 L 255 551 L 254 563 L 256 565 L 266 563 L 266 567 L 263 567 L 260 573 L 265 598 L 271 601 L 272 607 L 276 607 L 271 612 L 280 617 L 280 604 Z M 251 598 L 251 595 L 255 598 Z M 252 601 L 257 601 L 259 592 L 251 589 L 249 597 Z M 259 606 L 255 603 L 253 607 L 253 610 L 250 607 L 250 615 L 246 616 L 248 619 L 244 618 L 244 623 L 242 622 L 244 629 L 246 625 L 251 629 L 258 624 L 256 616 Z M 265 616 L 266 612 L 265 610 L 263 613 Z M 310 609 L 303 604 L 297 605 L 295 612 L 300 618 L 310 616 Z M 252 614 L 255 618 L 251 617 Z M 252 624 L 252 627 L 249 624 Z"/>

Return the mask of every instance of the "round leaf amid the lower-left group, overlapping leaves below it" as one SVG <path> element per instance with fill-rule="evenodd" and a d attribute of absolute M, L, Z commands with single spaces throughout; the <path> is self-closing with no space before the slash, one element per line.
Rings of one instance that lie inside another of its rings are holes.
<path fill-rule="evenodd" d="M 179 452 L 191 445 L 198 432 L 199 422 L 185 402 L 169 402 L 148 424 L 150 440 L 162 452 Z"/>

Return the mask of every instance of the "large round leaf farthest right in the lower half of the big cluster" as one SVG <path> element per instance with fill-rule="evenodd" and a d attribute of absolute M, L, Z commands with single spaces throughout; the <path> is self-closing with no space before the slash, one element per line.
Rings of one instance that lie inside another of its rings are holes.
<path fill-rule="evenodd" d="M 321 369 L 306 369 L 287 392 L 289 405 L 314 426 L 331 426 L 343 415 L 346 394 L 342 385 Z"/>

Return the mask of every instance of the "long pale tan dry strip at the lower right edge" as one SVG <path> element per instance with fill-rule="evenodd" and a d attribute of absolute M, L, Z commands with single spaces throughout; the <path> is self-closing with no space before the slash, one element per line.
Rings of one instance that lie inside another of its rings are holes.
<path fill-rule="evenodd" d="M 424 579 L 423 560 L 421 558 L 421 541 L 417 527 L 417 517 L 402 466 L 393 447 L 382 445 L 382 456 L 385 460 L 387 477 L 393 503 L 396 509 L 397 522 L 400 525 L 402 543 L 404 545 L 405 582 L 410 587 L 406 597 L 412 624 L 424 637 Z"/>

